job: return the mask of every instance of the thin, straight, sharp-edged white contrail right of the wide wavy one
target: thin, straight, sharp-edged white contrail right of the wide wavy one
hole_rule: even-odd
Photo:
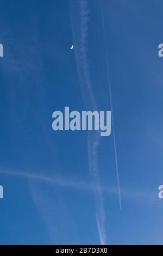
[[[111,113],[112,113],[112,134],[113,134],[114,151],[115,151],[115,164],[116,164],[116,175],[117,175],[117,185],[118,185],[118,197],[119,197],[120,209],[122,209],[120,178],[119,178],[118,160],[117,160],[117,147],[116,147],[116,137],[115,137],[115,128],[114,128],[114,116],[113,116],[113,107],[112,107],[110,71],[109,71],[109,61],[108,61],[109,55],[108,55],[108,47],[107,47],[107,44],[106,44],[106,28],[105,28],[105,19],[104,19],[104,11],[103,11],[102,0],[101,0],[101,12],[102,12],[102,22],[103,22],[103,30],[104,30],[104,41],[105,41],[105,52],[106,52],[106,70],[107,70],[107,76],[108,76],[110,107],[111,107]]]

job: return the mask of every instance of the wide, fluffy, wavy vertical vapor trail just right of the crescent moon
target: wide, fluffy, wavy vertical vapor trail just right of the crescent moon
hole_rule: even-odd
[[[76,8],[74,8],[76,6]],[[86,0],[78,0],[71,2],[71,27],[74,41],[74,52],[76,56],[77,70],[82,90],[84,103],[88,109],[92,111],[97,110],[95,95],[92,90],[92,82],[89,71],[89,60],[87,56],[87,33],[89,20],[89,10]],[[77,8],[78,11],[77,11]],[[80,15],[78,15],[80,13]],[[77,25],[78,24],[78,25]],[[102,187],[98,170],[98,145],[100,141],[99,133],[92,132],[88,137],[88,151],[89,151],[89,169],[93,186],[93,193],[96,202],[96,221],[101,244],[106,244],[105,231],[105,212]]]

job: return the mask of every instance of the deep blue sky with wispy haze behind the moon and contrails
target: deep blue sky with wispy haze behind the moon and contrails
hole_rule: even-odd
[[[99,0],[1,1],[1,245],[162,244],[163,3],[102,4],[105,32]],[[113,133],[52,130],[110,111],[107,51],[121,210]]]

